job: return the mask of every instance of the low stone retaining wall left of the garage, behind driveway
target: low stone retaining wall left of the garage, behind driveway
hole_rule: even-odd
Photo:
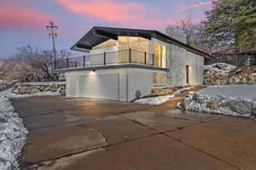
[[[37,94],[42,92],[58,92],[65,94],[65,82],[23,82],[16,83],[14,94]]]

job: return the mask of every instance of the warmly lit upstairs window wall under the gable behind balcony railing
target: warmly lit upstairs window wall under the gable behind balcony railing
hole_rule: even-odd
[[[152,51],[150,51],[150,45]],[[143,37],[123,37],[119,36],[118,40],[109,39],[102,42],[97,48],[117,47],[117,57],[119,63],[127,63],[129,61],[129,48],[131,48],[131,62],[141,63],[166,68],[166,46],[160,42],[150,43],[150,40]]]

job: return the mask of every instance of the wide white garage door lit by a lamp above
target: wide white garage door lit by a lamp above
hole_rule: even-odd
[[[78,97],[119,100],[119,74],[92,74],[76,77]]]

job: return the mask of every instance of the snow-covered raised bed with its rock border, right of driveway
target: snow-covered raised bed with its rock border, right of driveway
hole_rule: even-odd
[[[193,99],[195,94],[189,94],[185,98],[189,100],[189,104],[185,106],[186,110],[248,118],[256,116],[256,84],[209,86],[201,89],[197,94],[198,101]],[[181,105],[178,104],[178,106]]]

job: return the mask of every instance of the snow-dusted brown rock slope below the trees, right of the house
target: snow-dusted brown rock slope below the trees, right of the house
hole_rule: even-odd
[[[256,66],[236,67],[225,63],[205,65],[204,83],[206,85],[253,84],[256,83]]]

